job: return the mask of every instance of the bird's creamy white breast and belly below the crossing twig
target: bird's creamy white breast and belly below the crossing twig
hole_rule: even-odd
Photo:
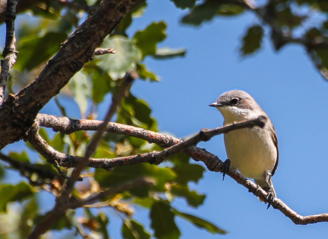
[[[231,166],[249,178],[263,178],[272,171],[277,160],[276,146],[270,131],[254,127],[224,134],[224,143]]]

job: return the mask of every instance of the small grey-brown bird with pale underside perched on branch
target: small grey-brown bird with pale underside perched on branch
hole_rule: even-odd
[[[224,144],[231,167],[245,177],[254,178],[255,183],[268,193],[267,199],[272,200],[276,192],[271,176],[277,170],[279,151],[277,133],[267,114],[252,96],[241,90],[228,91],[209,106],[221,112],[223,125],[255,119],[261,115],[268,118],[263,128],[244,128],[224,134]]]

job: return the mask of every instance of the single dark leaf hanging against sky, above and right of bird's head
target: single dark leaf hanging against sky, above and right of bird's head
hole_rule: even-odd
[[[242,55],[251,54],[261,47],[263,32],[263,28],[259,25],[248,28],[243,37],[243,45],[240,49]]]

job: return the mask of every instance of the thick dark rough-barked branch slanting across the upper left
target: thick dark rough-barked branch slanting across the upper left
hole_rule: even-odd
[[[92,59],[96,47],[141,1],[103,1],[72,33],[35,81],[16,95],[9,95],[0,108],[0,150],[24,136],[40,109]]]

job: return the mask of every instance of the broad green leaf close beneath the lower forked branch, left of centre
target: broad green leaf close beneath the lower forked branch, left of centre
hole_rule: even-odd
[[[103,169],[96,169],[94,174],[94,178],[98,181],[100,187],[115,187],[141,177],[154,178],[156,186],[152,188],[164,192],[166,190],[164,184],[174,181],[176,176],[169,168],[161,168],[148,163],[117,167],[111,172],[107,172]],[[129,191],[137,196],[148,196],[148,189],[137,188]]]

